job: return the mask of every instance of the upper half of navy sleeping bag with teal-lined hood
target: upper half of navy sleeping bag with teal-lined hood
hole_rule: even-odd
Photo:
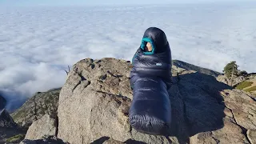
[[[146,43],[150,42],[152,51],[146,51]],[[130,72],[130,85],[133,88],[136,75],[160,77],[169,89],[171,83],[171,51],[166,34],[157,27],[148,28],[142,43],[132,59],[133,69]],[[135,76],[135,78],[133,78]]]

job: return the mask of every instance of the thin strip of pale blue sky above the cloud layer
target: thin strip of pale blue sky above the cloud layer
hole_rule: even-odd
[[[254,2],[254,0],[0,0],[0,6],[97,6],[202,2]]]

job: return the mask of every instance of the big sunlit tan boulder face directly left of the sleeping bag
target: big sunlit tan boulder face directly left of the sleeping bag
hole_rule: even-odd
[[[87,58],[75,64],[60,92],[58,138],[70,143],[104,136],[129,139],[129,70],[128,62],[114,58]]]

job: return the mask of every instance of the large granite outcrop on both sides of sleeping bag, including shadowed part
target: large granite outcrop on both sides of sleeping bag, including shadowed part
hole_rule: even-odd
[[[254,99],[210,75],[173,66],[169,139],[174,143],[249,143],[246,131],[256,130]],[[86,58],[76,63],[60,92],[58,138],[70,143],[169,143],[163,136],[141,134],[130,127],[129,81],[130,62]]]

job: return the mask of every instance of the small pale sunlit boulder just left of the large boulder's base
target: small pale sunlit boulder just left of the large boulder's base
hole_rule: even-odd
[[[57,122],[56,119],[51,118],[49,114],[42,116],[42,118],[33,122],[29,130],[26,132],[25,139],[37,140],[45,135],[57,134]]]

